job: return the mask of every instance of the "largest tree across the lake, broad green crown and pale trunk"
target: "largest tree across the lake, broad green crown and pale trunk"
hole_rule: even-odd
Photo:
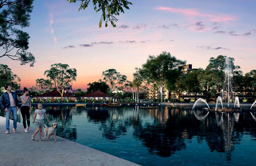
[[[143,80],[147,81],[148,84],[152,83],[157,86],[161,94],[162,103],[165,82],[175,83],[185,64],[186,61],[179,60],[164,51],[158,56],[149,56],[147,62],[142,64],[139,72]]]

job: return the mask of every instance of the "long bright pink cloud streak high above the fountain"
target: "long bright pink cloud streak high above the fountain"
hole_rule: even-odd
[[[235,16],[229,16],[229,15],[210,15],[210,14],[203,14],[198,12],[197,9],[181,9],[181,8],[170,8],[170,7],[157,7],[155,10],[161,10],[166,11],[170,13],[181,13],[186,16],[199,16],[199,17],[206,17],[209,18],[210,21],[237,21],[238,18]]]

